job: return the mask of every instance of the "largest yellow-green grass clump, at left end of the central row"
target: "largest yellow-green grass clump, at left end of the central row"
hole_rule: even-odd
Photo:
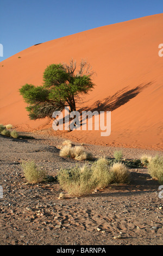
[[[96,182],[92,179],[92,171],[89,166],[78,166],[69,169],[61,169],[58,181],[62,189],[70,196],[84,196],[90,194],[96,188]]]

